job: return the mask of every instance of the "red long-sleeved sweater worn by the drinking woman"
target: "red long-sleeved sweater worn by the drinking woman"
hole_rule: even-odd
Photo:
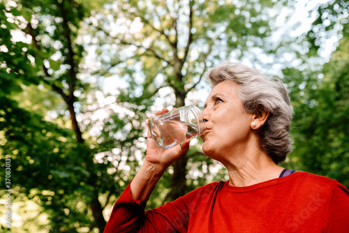
[[[128,186],[104,232],[349,232],[349,191],[307,172],[247,187],[210,183],[144,213],[146,202]]]

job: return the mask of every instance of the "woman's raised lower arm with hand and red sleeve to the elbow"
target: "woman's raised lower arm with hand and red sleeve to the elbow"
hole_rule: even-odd
[[[159,115],[165,112],[168,112],[168,110],[163,109],[156,114]],[[138,174],[114,205],[110,220],[105,227],[105,233],[138,232],[140,227],[142,227],[142,231],[147,231],[147,229],[149,229],[149,232],[154,231],[154,224],[149,220],[145,220],[145,204],[163,172],[174,160],[181,158],[188,151],[189,143],[190,140],[186,140],[181,145],[174,146],[171,149],[160,149],[153,142],[148,128],[147,156]]]

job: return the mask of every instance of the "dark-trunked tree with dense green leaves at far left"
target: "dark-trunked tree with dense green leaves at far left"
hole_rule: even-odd
[[[99,171],[105,167],[95,163],[94,151],[77,122],[76,91],[83,92],[87,85],[79,80],[83,48],[76,39],[88,12],[78,1],[1,3],[0,75],[1,87],[8,87],[1,91],[1,156],[13,156],[12,177],[18,196],[25,193],[45,207],[51,231],[97,227],[103,232],[105,227],[98,200],[105,191],[101,183],[105,172]],[[12,33],[22,33],[28,41],[16,41]],[[52,89],[56,98],[64,100],[73,134],[19,107],[12,95],[21,90],[21,84],[40,84],[41,89]],[[115,187],[108,182],[108,188]]]

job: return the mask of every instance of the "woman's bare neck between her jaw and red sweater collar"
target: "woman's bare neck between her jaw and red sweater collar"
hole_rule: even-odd
[[[264,151],[255,151],[250,156],[241,156],[223,163],[228,169],[231,186],[252,186],[256,183],[276,179],[283,167],[276,165]]]

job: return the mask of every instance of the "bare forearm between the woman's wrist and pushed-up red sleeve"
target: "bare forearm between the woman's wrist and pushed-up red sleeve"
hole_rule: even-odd
[[[133,200],[145,200],[163,175],[165,168],[144,160],[140,171],[130,184]]]

